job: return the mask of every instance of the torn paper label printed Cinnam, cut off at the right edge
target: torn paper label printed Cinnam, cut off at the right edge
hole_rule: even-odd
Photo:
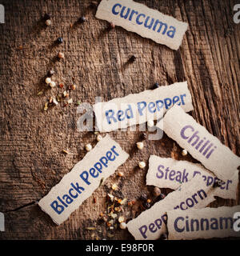
[[[239,217],[240,206],[167,211],[168,238],[240,237]]]

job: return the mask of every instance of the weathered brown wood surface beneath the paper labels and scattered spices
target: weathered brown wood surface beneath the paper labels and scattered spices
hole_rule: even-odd
[[[94,18],[96,10],[89,8],[88,0],[2,1],[6,23],[0,24],[0,211],[5,213],[6,231],[0,233],[1,239],[95,238],[86,226],[97,226],[95,233],[106,238],[106,226],[98,223],[98,215],[106,210],[106,191],[112,182],[118,183],[123,197],[134,200],[142,191],[151,197],[152,188],[145,182],[147,168],[136,168],[139,160],[147,162],[150,154],[170,157],[174,152],[178,159],[194,161],[180,156],[181,149],[166,134],[160,141],[147,142],[140,151],[135,146],[140,132],[111,132],[130,153],[119,168],[125,176],[109,178],[66,222],[56,226],[34,202],[83,158],[84,145],[95,145],[96,138],[77,130],[76,106],[42,110],[51,94],[63,91],[56,87],[37,96],[50,67],[56,70],[57,81],[77,85],[70,92],[74,102],[91,104],[95,96],[107,101],[150,89],[154,82],[168,85],[187,80],[194,118],[239,155],[240,30],[233,22],[238,1],[138,2],[189,23],[178,51],[120,27],[107,30],[107,22]],[[46,12],[52,14],[50,27],[42,26],[41,16]],[[82,15],[87,22],[70,28]],[[64,43],[54,46],[58,36]],[[59,50],[66,58],[55,62]],[[126,65],[133,54],[136,61]],[[70,154],[62,154],[62,149]],[[236,204],[239,197],[236,202],[218,198],[211,206]],[[131,217],[127,211],[124,214]],[[132,237],[118,229],[112,239],[119,238]]]

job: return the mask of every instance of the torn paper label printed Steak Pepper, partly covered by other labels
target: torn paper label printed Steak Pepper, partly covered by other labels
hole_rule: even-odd
[[[202,165],[187,161],[178,161],[173,158],[160,158],[151,155],[149,170],[146,174],[146,185],[158,186],[177,190],[182,183],[189,182],[196,175],[201,175],[206,186],[213,186],[219,179],[206,170]],[[236,199],[238,189],[238,171],[230,180],[214,190],[214,195],[220,198]]]

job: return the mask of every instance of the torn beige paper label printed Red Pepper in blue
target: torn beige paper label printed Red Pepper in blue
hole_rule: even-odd
[[[109,132],[162,118],[174,104],[182,106],[186,112],[193,110],[187,82],[160,86],[140,94],[114,98],[110,102],[98,102],[94,105],[94,113],[98,130]]]

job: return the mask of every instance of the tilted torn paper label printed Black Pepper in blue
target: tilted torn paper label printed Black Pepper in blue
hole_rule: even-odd
[[[38,205],[60,225],[93,194],[102,178],[114,174],[128,157],[129,154],[106,135],[38,202]]]

